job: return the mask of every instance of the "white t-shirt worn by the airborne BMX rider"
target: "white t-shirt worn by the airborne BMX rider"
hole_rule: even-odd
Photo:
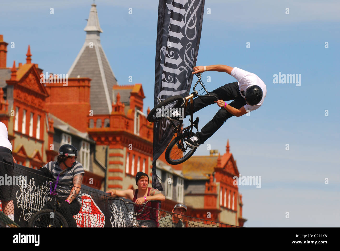
[[[262,89],[263,95],[261,101],[257,105],[249,104],[244,105],[244,109],[246,111],[247,110],[249,110],[250,112],[254,111],[263,104],[263,100],[265,99],[267,94],[267,86],[265,83],[263,83],[263,81],[259,77],[257,77],[256,74],[234,67],[231,72],[231,76],[233,76],[238,81],[238,89],[240,90],[240,93],[243,98],[245,90],[249,86],[258,85]]]

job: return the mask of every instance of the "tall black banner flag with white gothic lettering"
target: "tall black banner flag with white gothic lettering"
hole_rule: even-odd
[[[174,95],[187,96],[190,91],[200,45],[204,0],[159,0],[155,101]],[[156,175],[156,160],[171,141],[171,124],[162,119],[154,122],[152,187],[163,190]]]

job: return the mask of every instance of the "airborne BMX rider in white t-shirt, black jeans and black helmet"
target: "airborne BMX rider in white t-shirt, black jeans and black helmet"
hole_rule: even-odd
[[[185,140],[192,147],[198,147],[203,144],[228,118],[232,116],[240,117],[259,108],[267,94],[265,83],[254,73],[227,65],[196,66],[193,67],[192,73],[204,71],[223,71],[233,76],[237,82],[225,84],[209,93],[217,96],[219,98],[217,101],[204,97],[198,97],[193,100],[193,112],[197,112],[214,102],[224,109],[218,110],[214,118],[202,128],[201,132],[196,132],[192,137]],[[227,104],[224,100],[233,101]],[[187,109],[185,115],[189,114],[190,110]]]

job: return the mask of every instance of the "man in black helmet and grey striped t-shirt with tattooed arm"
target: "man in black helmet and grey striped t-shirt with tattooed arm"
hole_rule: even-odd
[[[62,145],[57,161],[47,163],[47,168],[54,179],[58,179],[58,202],[60,213],[69,222],[70,227],[77,227],[73,215],[77,215],[82,205],[80,188],[83,182],[84,168],[77,159],[78,151],[72,145]],[[59,178],[58,178],[59,176]],[[51,205],[47,204],[48,207]]]

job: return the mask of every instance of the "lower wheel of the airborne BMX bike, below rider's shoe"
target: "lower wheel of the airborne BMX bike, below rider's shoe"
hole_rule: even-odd
[[[191,155],[196,151],[197,147],[191,147],[189,145],[187,145],[184,142],[184,147],[185,149],[189,148],[189,151],[187,153],[185,153],[183,155],[183,150],[179,149],[176,143],[179,142],[180,140],[182,140],[183,138],[189,138],[188,137],[183,137],[183,135],[179,135],[177,137],[175,137],[169,144],[169,146],[167,147],[167,150],[165,151],[165,160],[170,164],[170,165],[178,165],[181,164],[183,162],[185,162],[186,160],[188,160],[188,158],[191,157]],[[176,147],[176,148],[174,148]],[[181,156],[182,153],[182,157]]]

